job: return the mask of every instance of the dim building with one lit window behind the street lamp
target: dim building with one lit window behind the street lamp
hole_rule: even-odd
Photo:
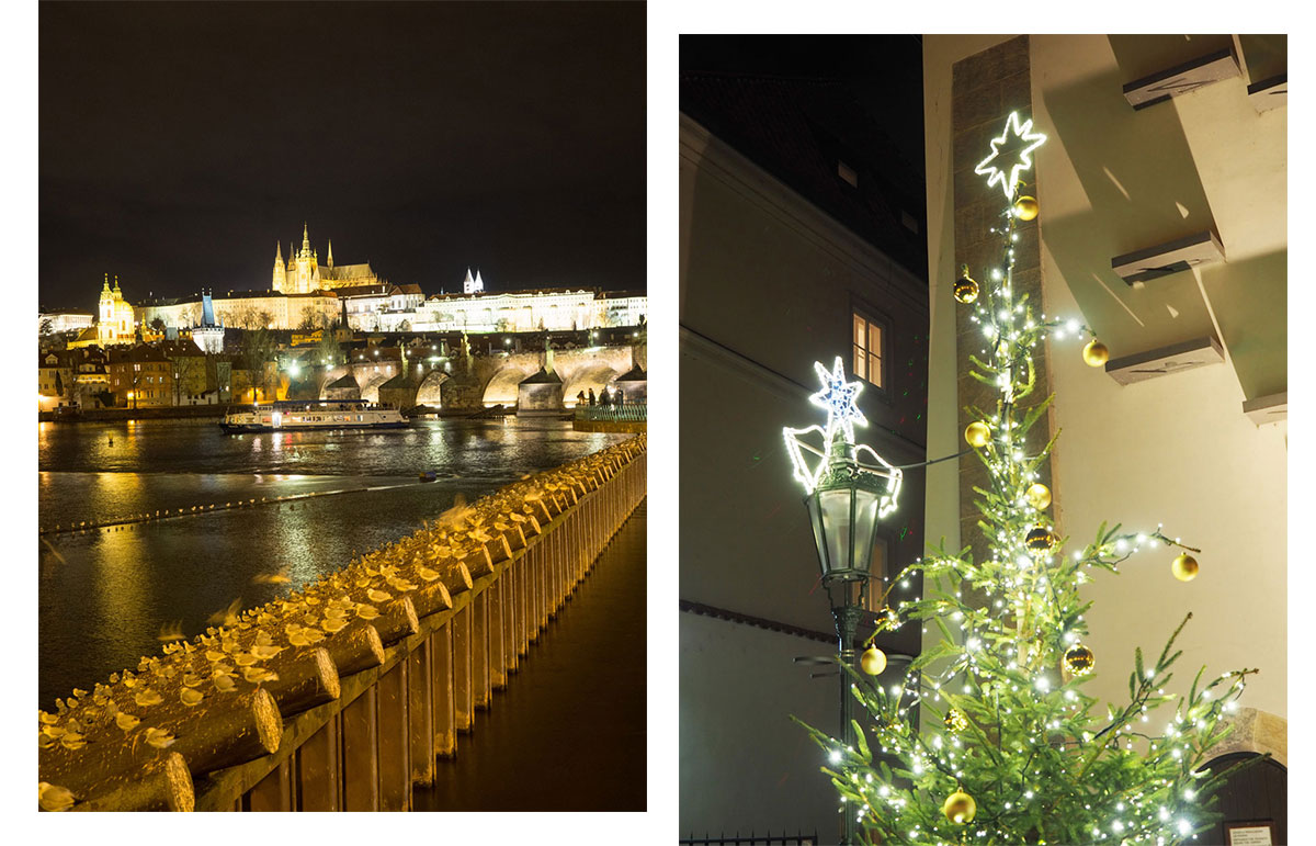
[[[834,152],[811,133],[817,101],[771,79],[682,75],[679,816],[696,842],[751,830],[837,842],[822,756],[791,721],[838,730],[834,623],[782,441],[783,426],[821,422],[813,364],[840,356],[863,385],[859,441],[896,465],[926,457],[926,283],[875,245],[891,233],[850,203]],[[853,104],[837,115],[862,117]],[[758,127],[771,142],[746,136]],[[891,202],[921,215],[917,195]],[[921,552],[921,515],[911,472],[870,561],[870,605]],[[879,644],[884,680],[919,651],[908,630]]]

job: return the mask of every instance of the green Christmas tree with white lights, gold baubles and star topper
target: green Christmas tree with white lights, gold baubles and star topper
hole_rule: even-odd
[[[975,422],[965,431],[990,478],[975,488],[990,556],[937,550],[892,578],[895,586],[921,572],[924,597],[884,610],[878,631],[921,625],[941,639],[888,688],[844,665],[869,716],[854,721],[853,743],[808,727],[863,842],[1166,846],[1219,818],[1212,792],[1230,770],[1199,768],[1228,734],[1223,717],[1255,671],[1203,679],[1203,668],[1187,692],[1171,693],[1180,655],[1174,643],[1187,614],[1154,660],[1136,652],[1126,701],[1100,709],[1083,692],[1096,660],[1083,644],[1091,604],[1080,586],[1096,569],[1117,573],[1144,548],[1184,550],[1171,571],[1186,581],[1198,571],[1187,552],[1198,550],[1159,526],[1140,532],[1103,524],[1086,546],[1055,534],[1038,472],[1055,439],[1040,449],[1026,439],[1051,399],[1034,395],[1033,357],[1048,337],[1091,337],[1083,357],[1094,366],[1107,351],[1086,327],[1034,314],[1012,286],[1016,231],[1037,216],[1020,175],[1044,141],[1017,115],[992,141],[976,173],[1005,198],[994,228],[1001,261],[983,285],[965,268],[954,290],[974,308],[986,340],[983,354],[970,356],[973,376],[995,393],[995,407],[969,409]],[[886,665],[871,646],[861,663],[874,672]],[[916,712],[921,727],[912,725]]]

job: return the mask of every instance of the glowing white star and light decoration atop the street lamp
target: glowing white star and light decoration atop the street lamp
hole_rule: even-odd
[[[822,390],[809,397],[809,402],[826,410],[826,426],[808,426],[805,428],[791,428],[787,426],[782,430],[782,435],[786,437],[786,451],[791,456],[791,465],[795,470],[795,478],[804,485],[807,493],[812,494],[834,460],[849,460],[857,472],[880,476],[887,480],[886,494],[882,497],[878,513],[879,517],[886,517],[896,507],[896,495],[900,493],[903,474],[898,468],[887,463],[886,459],[874,452],[871,447],[854,443],[854,426],[869,424],[869,419],[855,406],[855,399],[858,399],[859,391],[863,390],[863,382],[845,381],[845,365],[840,356],[836,357],[836,362],[830,370],[817,361],[813,362],[813,370],[819,374],[819,381],[822,382]],[[801,436],[809,432],[822,435],[822,449],[817,449],[801,440]],[[808,465],[804,457],[805,452],[819,456],[815,466],[811,468]],[[873,456],[875,464],[859,464],[858,456],[861,452],[867,452]]]

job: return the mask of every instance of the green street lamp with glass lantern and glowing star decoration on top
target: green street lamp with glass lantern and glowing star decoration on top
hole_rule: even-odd
[[[813,527],[822,585],[836,621],[837,662],[841,665],[841,738],[848,747],[853,747],[850,713],[854,700],[846,667],[854,665],[854,634],[867,596],[878,522],[895,510],[903,474],[871,447],[854,443],[854,426],[869,424],[854,405],[863,383],[845,381],[840,356],[830,372],[817,362],[813,369],[822,390],[809,397],[809,402],[826,410],[826,427],[786,427],[782,434],[795,478],[804,485],[804,505]],[[822,435],[822,449],[803,440],[811,432]],[[859,461],[859,453],[865,451],[875,464]],[[812,466],[805,452],[817,457]],[[855,810],[842,808],[841,820],[845,830],[841,843],[849,846],[855,842],[858,830]]]

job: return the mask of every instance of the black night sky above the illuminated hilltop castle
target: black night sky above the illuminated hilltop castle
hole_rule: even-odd
[[[42,3],[41,304],[267,289],[275,241],[426,294],[645,287],[642,3]]]

